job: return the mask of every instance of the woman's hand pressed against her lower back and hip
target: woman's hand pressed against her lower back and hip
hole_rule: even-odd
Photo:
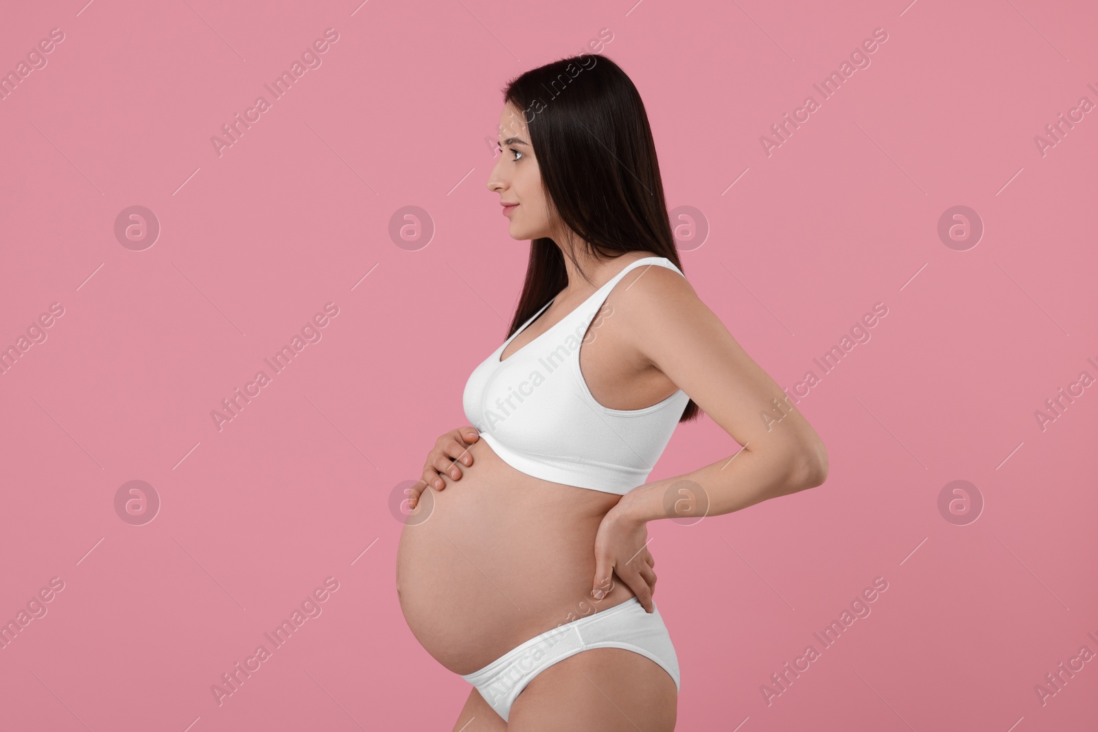
[[[656,592],[656,559],[648,551],[648,522],[626,517],[613,508],[595,533],[595,582],[591,596],[602,599],[616,574],[651,612]]]

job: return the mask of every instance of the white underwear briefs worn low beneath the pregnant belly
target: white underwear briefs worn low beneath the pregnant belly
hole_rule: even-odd
[[[660,610],[652,612],[630,597],[608,610],[573,620],[531,638],[480,671],[461,678],[477,687],[500,717],[507,720],[511,706],[534,677],[558,661],[587,649],[625,649],[651,658],[679,685],[679,656]]]

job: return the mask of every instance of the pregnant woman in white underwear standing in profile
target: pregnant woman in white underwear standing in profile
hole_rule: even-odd
[[[500,148],[488,188],[530,240],[526,281],[466,384],[473,427],[438,439],[410,493],[401,608],[473,686],[453,730],[673,730],[647,523],[820,485],[827,452],[684,278],[645,106],[614,61],[511,81]],[[646,482],[699,408],[742,449]]]

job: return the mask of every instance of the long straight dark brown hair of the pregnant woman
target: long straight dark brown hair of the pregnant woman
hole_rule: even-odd
[[[617,64],[601,54],[561,58],[508,81],[503,95],[524,112],[550,216],[600,261],[651,251],[682,270],[645,103]],[[571,251],[569,258],[589,279]],[[507,337],[567,284],[561,248],[550,238],[531,240]],[[698,412],[691,399],[679,421]]]

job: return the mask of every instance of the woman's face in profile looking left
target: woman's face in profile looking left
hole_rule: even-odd
[[[503,154],[492,168],[488,189],[500,194],[501,203],[517,204],[501,206],[511,219],[507,233],[513,239],[556,240],[549,223],[549,196],[542,188],[526,117],[518,108],[505,104],[500,113],[498,143]]]

